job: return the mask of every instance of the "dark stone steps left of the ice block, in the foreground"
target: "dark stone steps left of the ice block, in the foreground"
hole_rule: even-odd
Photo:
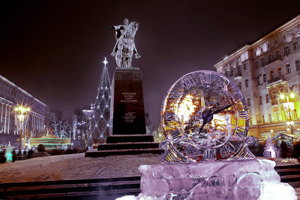
[[[116,199],[140,193],[140,176],[1,184],[0,199]]]

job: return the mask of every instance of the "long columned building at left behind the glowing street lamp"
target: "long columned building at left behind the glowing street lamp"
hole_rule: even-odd
[[[18,146],[15,145],[20,136],[15,122],[18,113],[14,110],[18,105],[30,108],[26,129],[35,133],[44,131],[46,104],[0,75],[0,145],[10,142]]]

